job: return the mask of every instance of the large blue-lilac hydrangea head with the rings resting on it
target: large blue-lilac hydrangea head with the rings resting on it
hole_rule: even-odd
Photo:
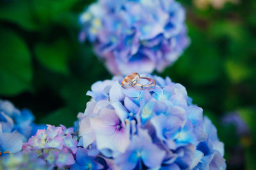
[[[154,89],[124,89],[122,76],[92,85],[92,99],[79,113],[84,148],[108,169],[226,169],[216,128],[185,87],[147,76],[156,80]]]

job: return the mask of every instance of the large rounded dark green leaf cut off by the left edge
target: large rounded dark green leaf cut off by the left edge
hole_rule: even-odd
[[[0,94],[12,96],[31,88],[31,58],[15,32],[0,29],[0,37]]]

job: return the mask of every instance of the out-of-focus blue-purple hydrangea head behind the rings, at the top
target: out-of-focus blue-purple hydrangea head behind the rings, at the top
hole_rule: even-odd
[[[185,15],[174,0],[98,0],[81,14],[80,40],[113,74],[161,72],[189,45]]]

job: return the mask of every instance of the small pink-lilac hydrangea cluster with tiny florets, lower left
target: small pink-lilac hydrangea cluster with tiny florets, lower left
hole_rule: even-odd
[[[72,127],[47,125],[46,130],[38,130],[22,148],[24,153],[37,153],[37,157],[53,167],[68,167],[75,163],[77,136]]]

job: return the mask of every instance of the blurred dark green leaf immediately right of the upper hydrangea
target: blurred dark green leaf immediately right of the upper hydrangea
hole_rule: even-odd
[[[191,45],[174,64],[177,74],[186,76],[194,85],[212,84],[220,78],[221,70],[216,46],[193,25],[189,26],[189,36],[192,39]]]

